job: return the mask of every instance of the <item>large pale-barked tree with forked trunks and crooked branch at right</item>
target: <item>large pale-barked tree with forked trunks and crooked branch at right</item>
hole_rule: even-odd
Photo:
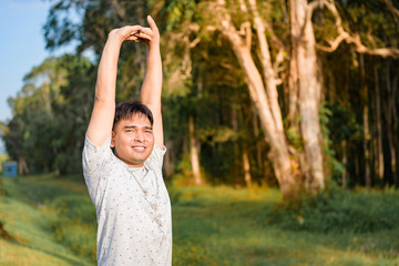
[[[182,1],[168,1],[166,10],[172,10],[173,14],[178,13],[175,9],[182,11],[181,7],[184,6],[180,6],[180,3]],[[188,1],[188,3],[192,2]],[[259,115],[266,141],[270,145],[269,160],[274,165],[276,178],[283,195],[290,198],[297,196],[301,190],[308,193],[318,192],[325,187],[326,182],[323,163],[324,140],[319,117],[319,106],[323,100],[323,70],[317,49],[332,52],[345,41],[354,45],[355,51],[359,53],[397,58],[398,50],[389,47],[389,41],[378,43],[382,47],[368,48],[360,38],[352,37],[344,28],[335,1],[289,1],[291,42],[289,43],[288,117],[290,126],[299,124],[300,130],[297,133],[300,135],[303,150],[293,149],[288,142],[289,135],[285,134],[289,127],[284,127],[282,115],[284,106],[280,106],[277,93],[282,74],[278,69],[286,60],[282,54],[287,53],[288,49],[283,41],[277,40],[274,28],[282,30],[284,27],[277,25],[273,20],[266,20],[269,18],[267,16],[270,16],[270,10],[276,10],[274,7],[277,1],[257,3],[255,0],[202,1],[197,3],[195,11],[191,10],[190,13],[202,11],[209,14],[207,19],[193,21],[192,17],[184,18],[184,14],[188,13],[187,11],[184,11],[185,13],[182,11],[181,20],[192,20],[192,24],[202,22],[203,28],[217,30],[229,43],[245,73],[250,98]],[[337,34],[332,38],[331,34],[325,34],[324,39],[317,43],[313,19],[315,11],[323,10],[324,7],[329,11],[326,17],[331,17],[328,21],[326,20],[329,22],[329,27],[326,28],[331,30],[332,25],[332,30]],[[392,6],[390,8],[395,13],[396,9]],[[187,22],[182,23],[187,24]],[[252,34],[253,32],[255,37]],[[270,47],[269,40],[274,47]],[[297,120],[298,116],[299,120]]]

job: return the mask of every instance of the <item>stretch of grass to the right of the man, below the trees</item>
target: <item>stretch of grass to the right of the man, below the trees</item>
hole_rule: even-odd
[[[398,250],[399,238],[395,238],[397,233],[392,229],[367,234],[325,233],[314,232],[310,227],[306,231],[296,229],[276,221],[270,223],[274,218],[270,213],[282,207],[280,195],[275,190],[172,187],[170,194],[174,266],[399,265],[398,253],[395,252]],[[337,197],[339,200],[339,194]],[[360,203],[365,204],[367,201],[361,198]],[[331,204],[339,205],[338,200],[331,201]],[[369,201],[375,200],[369,197]],[[354,201],[357,200],[341,198],[344,206],[332,209],[350,209]],[[326,206],[327,200],[319,204],[330,209]],[[372,204],[376,206],[377,203]],[[289,209],[280,208],[279,214],[282,218],[293,218]],[[305,218],[323,223],[334,214],[311,215]],[[345,213],[336,215],[345,216]],[[300,219],[294,216],[294,222],[300,223]]]

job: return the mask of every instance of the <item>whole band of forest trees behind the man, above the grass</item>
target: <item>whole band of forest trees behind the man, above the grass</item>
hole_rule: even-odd
[[[9,99],[2,139],[24,173],[81,173],[108,33],[162,34],[167,181],[279,187],[284,198],[398,186],[399,2],[53,0],[45,59]],[[90,51],[92,57],[85,58]],[[126,43],[117,102],[137,99],[145,47]]]

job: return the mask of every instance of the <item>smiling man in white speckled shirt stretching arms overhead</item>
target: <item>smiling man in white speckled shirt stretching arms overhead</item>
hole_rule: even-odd
[[[172,265],[171,203],[162,177],[160,33],[127,25],[112,30],[98,73],[83,149],[83,174],[98,218],[99,265]],[[147,44],[141,102],[115,108],[117,59],[124,41]],[[111,147],[114,147],[114,153]]]

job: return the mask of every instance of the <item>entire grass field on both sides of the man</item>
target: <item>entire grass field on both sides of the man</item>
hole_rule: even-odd
[[[317,226],[300,229],[289,219],[278,222],[284,211],[273,221],[274,209],[282,206],[275,188],[168,191],[174,266],[399,265],[399,226],[389,223],[386,228],[374,225],[376,229],[360,233]],[[378,202],[377,208],[398,217],[392,212],[399,212],[399,205],[392,201],[399,200],[399,193],[381,198],[389,201]],[[301,224],[304,219],[306,223],[307,216],[297,221]],[[95,211],[80,176],[1,177],[0,223],[0,265],[95,265]],[[350,222],[347,226],[357,228]]]

